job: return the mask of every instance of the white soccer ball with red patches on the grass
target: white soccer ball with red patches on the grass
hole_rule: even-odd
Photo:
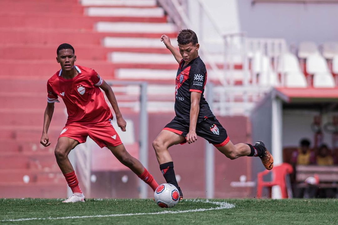
[[[161,208],[171,208],[177,204],[179,192],[174,185],[163,183],[156,188],[154,199],[156,204]]]

